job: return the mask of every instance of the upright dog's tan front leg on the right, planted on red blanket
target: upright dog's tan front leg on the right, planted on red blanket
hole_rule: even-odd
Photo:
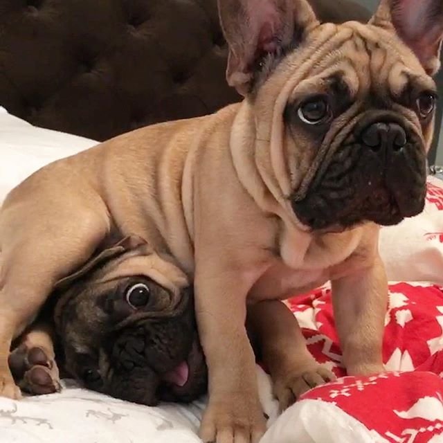
[[[332,281],[334,317],[343,363],[350,375],[383,372],[383,330],[388,281],[381,259],[363,271]]]

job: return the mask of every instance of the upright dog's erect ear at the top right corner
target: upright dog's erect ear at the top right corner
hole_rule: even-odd
[[[440,69],[442,0],[382,0],[370,23],[393,28],[413,50],[428,75]]]

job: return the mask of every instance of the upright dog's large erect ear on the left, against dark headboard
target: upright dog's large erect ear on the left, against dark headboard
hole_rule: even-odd
[[[284,52],[318,25],[306,0],[218,0],[218,8],[229,47],[226,79],[243,96],[264,56]]]

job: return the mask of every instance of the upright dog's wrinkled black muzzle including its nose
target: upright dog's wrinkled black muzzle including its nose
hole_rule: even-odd
[[[313,230],[350,228],[363,221],[398,224],[422,212],[426,197],[426,152],[408,123],[395,116],[364,119],[328,152],[305,195],[291,204]]]

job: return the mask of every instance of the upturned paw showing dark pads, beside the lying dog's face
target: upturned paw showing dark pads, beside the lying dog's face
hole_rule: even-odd
[[[12,376],[24,392],[44,395],[61,390],[57,363],[42,347],[22,344],[11,352],[8,363]]]

